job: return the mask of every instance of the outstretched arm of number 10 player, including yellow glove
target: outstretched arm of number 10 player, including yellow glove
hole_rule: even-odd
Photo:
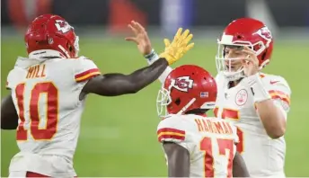
[[[131,24],[137,26],[137,28],[134,29],[136,37],[129,37],[127,40],[137,42],[137,47],[139,47],[139,44],[142,44],[142,42],[139,41],[138,38],[140,38],[140,36],[145,36],[146,31],[137,22],[132,22]],[[129,26],[131,27],[131,25]],[[194,43],[188,45],[193,38],[189,30],[182,32],[182,29],[179,29],[175,36],[177,36],[177,39],[172,41],[169,48],[165,49],[163,53],[160,54],[160,58],[151,66],[139,69],[130,75],[108,74],[95,76],[84,85],[82,92],[97,93],[104,96],[137,93],[161,76],[166,67],[172,65],[179,60],[184,53],[193,48]]]

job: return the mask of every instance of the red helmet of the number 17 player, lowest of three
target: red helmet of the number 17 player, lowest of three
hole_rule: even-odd
[[[216,102],[216,81],[202,67],[177,67],[166,77],[156,102],[160,117],[194,109],[213,109]]]

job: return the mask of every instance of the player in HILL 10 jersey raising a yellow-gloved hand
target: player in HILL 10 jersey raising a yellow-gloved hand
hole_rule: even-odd
[[[93,60],[78,56],[78,37],[64,18],[44,14],[34,19],[24,36],[29,57],[17,58],[7,77],[12,92],[1,105],[1,128],[17,128],[20,149],[11,160],[9,176],[74,177],[86,94],[137,93],[193,47],[188,45],[192,34],[181,37],[149,67],[130,75],[102,75]]]

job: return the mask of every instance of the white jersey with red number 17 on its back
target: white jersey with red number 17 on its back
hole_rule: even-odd
[[[230,122],[195,114],[169,115],[157,128],[159,142],[174,142],[190,154],[190,177],[232,177],[238,142]]]

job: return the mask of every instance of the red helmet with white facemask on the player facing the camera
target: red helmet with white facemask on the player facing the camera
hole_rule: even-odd
[[[241,18],[227,25],[221,39],[218,40],[216,68],[218,72],[223,71],[225,76],[233,81],[243,77],[243,67],[237,71],[231,71],[231,62],[241,59],[225,58],[225,47],[231,46],[248,46],[253,49],[259,59],[261,69],[269,64],[273,49],[273,39],[267,26],[256,19]]]

